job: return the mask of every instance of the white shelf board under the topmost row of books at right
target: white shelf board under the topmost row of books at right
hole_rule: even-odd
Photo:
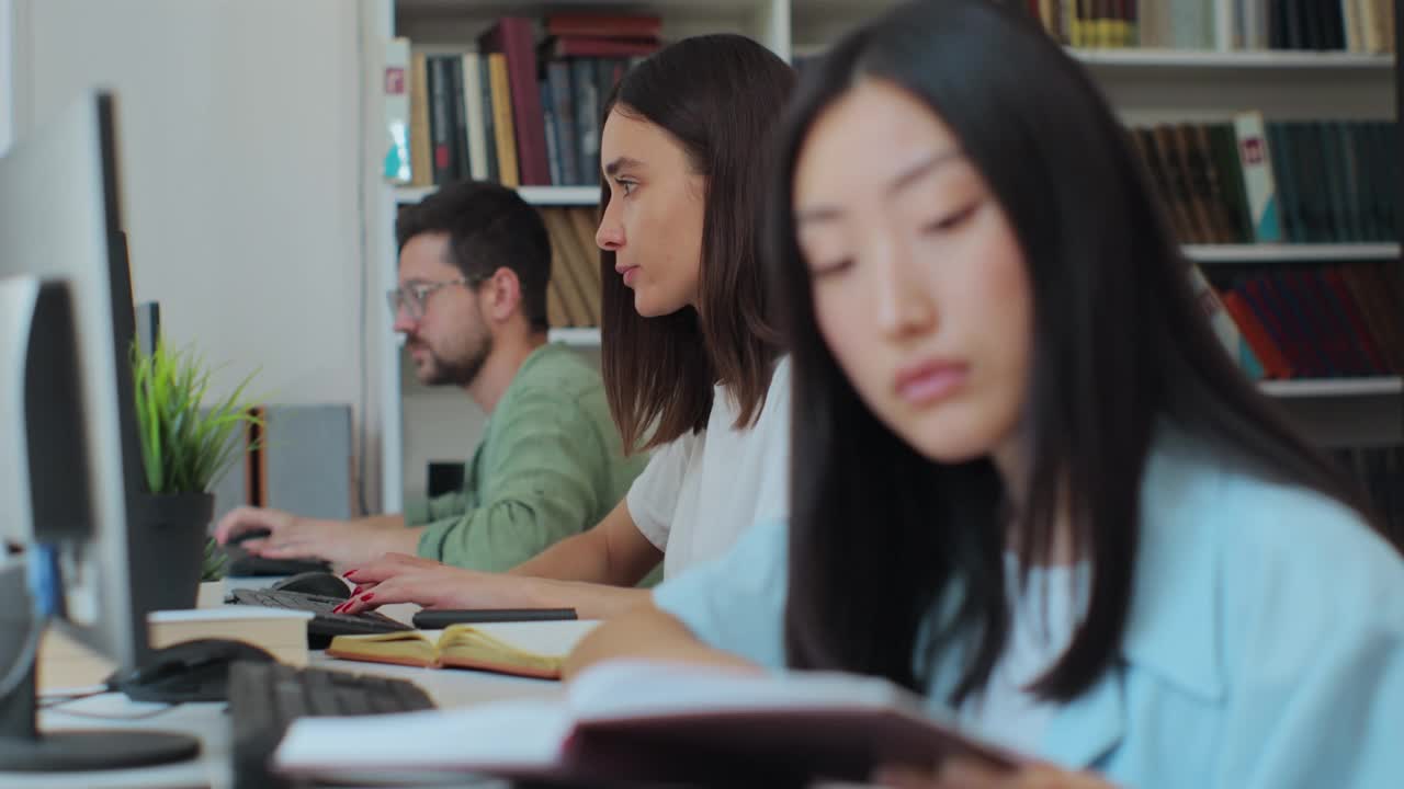
[[[1387,70],[1393,55],[1362,52],[1289,52],[1241,51],[1217,52],[1196,49],[1070,49],[1074,58],[1091,67],[1136,69],[1346,69]]]

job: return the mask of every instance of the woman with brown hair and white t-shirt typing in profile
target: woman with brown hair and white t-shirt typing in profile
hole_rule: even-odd
[[[737,35],[680,41],[615,87],[601,133],[602,372],[649,468],[595,528],[508,574],[389,555],[344,611],[571,606],[601,618],[785,515],[789,385],[768,317],[760,212],[793,72]]]

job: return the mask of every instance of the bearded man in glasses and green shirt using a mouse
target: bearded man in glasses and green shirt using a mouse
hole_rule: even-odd
[[[400,211],[395,330],[421,383],[458,386],[489,414],[463,490],[403,515],[322,521],[241,507],[215,536],[267,557],[357,564],[417,553],[508,570],[600,522],[644,458],[625,458],[600,373],[546,343],[550,239],[515,191],[468,181]]]

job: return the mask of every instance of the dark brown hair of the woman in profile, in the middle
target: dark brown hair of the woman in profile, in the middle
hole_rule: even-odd
[[[765,404],[779,337],[768,314],[760,211],[769,133],[793,84],[793,70],[760,44],[703,35],[630,69],[604,105],[601,128],[615,108],[644,119],[668,132],[706,177],[699,309],[640,316],[615,274],[614,253],[600,256],[601,368],[630,451],[705,428],[717,383],[736,400],[737,428]],[[602,212],[608,184],[600,202]]]

